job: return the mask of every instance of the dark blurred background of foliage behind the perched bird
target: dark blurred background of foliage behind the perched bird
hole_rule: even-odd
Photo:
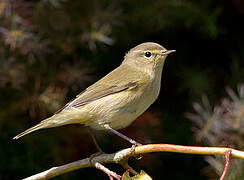
[[[52,115],[147,41],[167,58],[158,100],[121,130],[147,143],[244,149],[241,0],[0,0],[0,179],[22,179],[96,152],[85,127],[18,133]],[[98,132],[105,152],[130,144]],[[218,179],[220,156],[152,153],[131,159],[154,179]],[[108,165],[122,174],[118,165]],[[94,168],[54,179],[108,179]],[[243,179],[233,159],[226,179]]]

